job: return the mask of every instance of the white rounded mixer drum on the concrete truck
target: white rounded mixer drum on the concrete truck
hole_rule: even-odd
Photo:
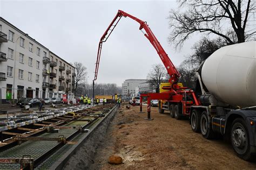
[[[256,105],[256,41],[218,49],[204,62],[201,77],[218,100],[233,107]]]

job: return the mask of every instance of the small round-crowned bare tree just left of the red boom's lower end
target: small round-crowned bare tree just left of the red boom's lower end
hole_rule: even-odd
[[[166,75],[166,69],[161,64],[153,65],[150,73],[147,74],[147,80],[154,88],[156,88],[156,93],[159,93],[160,83],[166,81]]]

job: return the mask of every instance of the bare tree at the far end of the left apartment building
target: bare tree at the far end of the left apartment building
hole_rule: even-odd
[[[80,86],[85,80],[87,72],[86,72],[86,67],[83,66],[83,64],[80,62],[75,62],[74,66],[76,67],[76,79],[75,79],[75,91],[76,91],[77,87]]]

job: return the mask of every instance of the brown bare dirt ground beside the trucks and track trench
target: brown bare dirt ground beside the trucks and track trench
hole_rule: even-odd
[[[153,121],[138,113],[139,106],[118,110],[103,142],[97,148],[90,169],[255,169],[234,154],[223,139],[206,140],[194,133],[188,120],[178,121],[169,113],[151,108]],[[108,163],[111,155],[123,158],[123,164]],[[219,162],[220,164],[216,164]]]

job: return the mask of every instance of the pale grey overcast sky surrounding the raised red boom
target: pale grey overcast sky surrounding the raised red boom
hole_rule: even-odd
[[[178,66],[199,37],[180,51],[168,43],[169,11],[176,1],[10,1],[0,0],[0,15],[68,62],[86,66],[89,83],[95,72],[99,39],[116,15],[124,10],[149,24],[158,41]],[[146,79],[153,64],[161,60],[139,24],[122,18],[104,42],[97,83]]]

